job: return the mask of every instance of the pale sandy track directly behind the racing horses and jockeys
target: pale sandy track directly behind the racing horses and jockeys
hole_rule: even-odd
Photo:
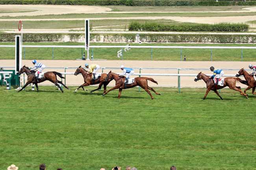
[[[236,71],[224,71],[225,74],[236,74],[237,71],[241,68],[247,68],[250,62],[206,62],[206,61],[132,61],[132,60],[39,60],[46,65],[46,67],[78,67],[84,66],[86,62],[89,64],[98,64],[100,67],[112,67],[119,68],[120,65],[132,68],[198,68],[198,70],[182,70],[181,74],[198,74],[200,69],[208,69],[210,66],[221,69],[237,69]],[[0,66],[14,66],[15,60],[0,60]],[[32,67],[31,60],[22,60],[22,64]],[[64,72],[64,69],[45,69],[45,71],[58,71]],[[67,69],[67,72],[74,73],[75,69]],[[104,69],[104,73],[108,73],[110,69]],[[120,69],[112,69],[115,73],[121,73]],[[101,72],[101,70],[99,70]],[[202,71],[206,74],[211,74],[211,71],[204,70]],[[139,70],[135,70],[135,73],[139,73]],[[178,73],[177,70],[152,70],[152,69],[143,69],[141,73]],[[135,77],[135,76],[133,76]],[[176,87],[178,85],[178,78],[174,76],[146,76],[152,77],[158,81],[159,85],[156,85],[152,82],[149,82],[150,86],[168,86]],[[241,77],[241,79],[243,79]],[[74,76],[67,75],[66,83],[69,85],[80,85],[83,84],[82,75]],[[51,84],[50,82],[45,82],[44,84]],[[114,81],[110,83],[114,85]],[[205,87],[203,81],[195,82],[194,77],[181,77],[181,86],[182,87]],[[239,86],[245,87],[245,85],[240,84]]]

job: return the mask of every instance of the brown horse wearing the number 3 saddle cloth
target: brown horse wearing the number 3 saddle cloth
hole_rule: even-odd
[[[202,72],[198,73],[197,77],[196,77],[194,80],[195,80],[195,81],[204,80],[204,82],[206,83],[206,88],[207,88],[207,90],[206,90],[206,93],[205,93],[203,99],[205,99],[206,96],[208,95],[209,91],[212,90],[212,91],[214,91],[214,92],[221,98],[221,100],[223,100],[222,97],[221,97],[221,95],[219,95],[219,93],[218,93],[217,90],[222,89],[222,88],[224,88],[224,87],[226,87],[226,86],[228,86],[228,87],[229,87],[230,89],[232,89],[232,90],[239,91],[241,95],[244,95],[244,96],[248,99],[247,95],[245,95],[245,93],[243,93],[243,92],[241,91],[241,88],[236,86],[236,81],[239,81],[239,82],[241,82],[242,84],[246,84],[246,85],[247,85],[247,82],[246,82],[245,80],[241,80],[241,79],[236,78],[236,77],[226,77],[226,78],[224,79],[224,84],[223,84],[223,86],[219,86],[219,85],[216,86],[216,85],[214,84],[213,79],[211,79],[208,75],[203,74]]]

